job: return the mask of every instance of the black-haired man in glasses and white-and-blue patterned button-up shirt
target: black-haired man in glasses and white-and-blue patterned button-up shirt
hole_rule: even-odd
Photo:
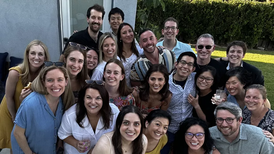
[[[196,55],[193,52],[183,52],[175,62],[175,68],[169,76],[169,90],[172,98],[167,112],[172,120],[168,126],[168,142],[161,150],[161,153],[168,153],[172,145],[175,133],[178,131],[180,122],[192,117],[193,106],[188,103],[188,94],[195,92],[195,70]]]

